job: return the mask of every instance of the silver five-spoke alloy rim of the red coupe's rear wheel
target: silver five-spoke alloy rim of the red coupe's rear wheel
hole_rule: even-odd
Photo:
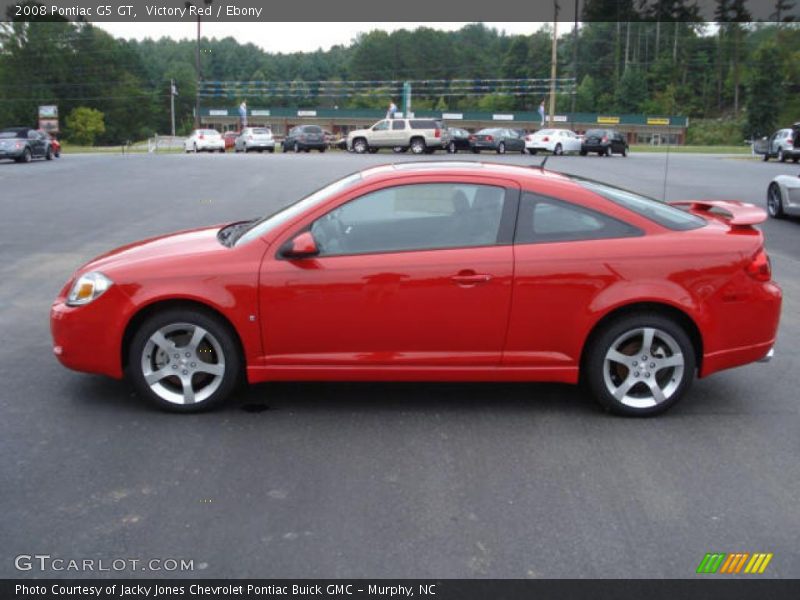
[[[675,338],[655,327],[638,327],[609,347],[603,381],[621,404],[651,408],[672,397],[683,381],[684,364]]]

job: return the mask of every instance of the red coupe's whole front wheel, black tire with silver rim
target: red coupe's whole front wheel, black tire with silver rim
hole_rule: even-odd
[[[136,391],[163,410],[200,412],[219,405],[242,370],[234,334],[205,311],[170,309],[133,336],[128,374]]]

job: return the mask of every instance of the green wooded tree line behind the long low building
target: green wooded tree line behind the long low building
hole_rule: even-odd
[[[557,111],[719,119],[736,123],[745,137],[800,121],[800,28],[780,17],[792,4],[777,0],[773,22],[753,23],[744,0],[717,0],[717,21],[708,23],[688,0],[585,0],[577,30],[558,24],[558,76],[574,78],[575,85],[558,93]],[[609,14],[618,20],[603,22]],[[202,38],[205,81],[291,82],[292,91],[245,90],[203,102],[384,108],[385,91],[362,88],[337,97],[310,82],[547,79],[552,33],[552,24],[531,35],[479,23],[451,32],[375,30],[329,50],[292,53],[269,53],[232,37]],[[98,143],[167,133],[174,80],[177,125],[186,132],[193,124],[195,50],[195,40],[122,40],[89,23],[8,17],[0,24],[0,125],[33,124],[38,105],[57,104],[62,126],[78,108],[102,113]],[[536,110],[546,95],[545,87],[518,95],[483,93],[477,84],[470,93],[433,89],[416,87],[414,107]]]

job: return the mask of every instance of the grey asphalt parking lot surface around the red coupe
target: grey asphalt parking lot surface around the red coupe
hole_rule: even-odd
[[[775,359],[695,382],[656,419],[606,416],[577,389],[544,384],[265,384],[221,411],[170,415],[53,358],[49,305],[93,256],[255,217],[409,159],[0,164],[0,577],[98,575],[14,568],[15,556],[44,553],[194,560],[183,574],[99,574],[120,576],[686,578],[706,552],[772,552],[763,577],[800,577],[798,220],[763,226],[784,289]],[[666,163],[547,166],[668,199],[761,206],[772,177],[800,171],[672,154],[665,186]]]

